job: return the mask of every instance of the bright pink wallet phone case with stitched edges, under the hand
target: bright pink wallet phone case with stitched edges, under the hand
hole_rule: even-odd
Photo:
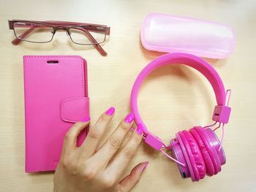
[[[26,172],[55,170],[64,136],[89,119],[86,60],[77,55],[25,55]],[[78,137],[83,142],[88,128]]]

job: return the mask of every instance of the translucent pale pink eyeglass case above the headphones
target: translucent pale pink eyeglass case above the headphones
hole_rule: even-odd
[[[143,20],[140,40],[147,50],[190,53],[205,58],[227,58],[235,47],[230,26],[156,12]]]

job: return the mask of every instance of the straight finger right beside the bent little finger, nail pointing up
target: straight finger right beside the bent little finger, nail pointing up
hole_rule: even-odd
[[[112,120],[115,113],[115,108],[110,107],[105,113],[100,115],[97,123],[89,130],[89,133],[86,137],[86,140],[83,142],[83,145],[80,147],[80,150],[83,150],[83,157],[90,157],[94,154],[99,140],[105,132],[108,123]]]

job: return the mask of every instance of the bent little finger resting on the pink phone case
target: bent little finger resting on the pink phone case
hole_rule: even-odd
[[[63,153],[69,153],[72,150],[75,150],[77,147],[77,137],[78,134],[80,134],[80,131],[83,130],[83,128],[86,128],[90,123],[90,119],[86,122],[77,122],[75,123],[71,128],[69,128],[69,131],[67,131],[67,134],[64,137],[64,143],[63,143]]]

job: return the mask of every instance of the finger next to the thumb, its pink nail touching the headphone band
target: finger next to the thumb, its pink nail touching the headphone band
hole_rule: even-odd
[[[138,126],[136,131],[133,132],[132,137],[128,140],[127,144],[121,149],[121,151],[116,155],[113,161],[108,166],[106,172],[110,175],[116,175],[116,177],[120,177],[124,169],[129,164],[129,161],[132,159],[135,151],[140,145],[141,139],[143,135],[142,126]]]

